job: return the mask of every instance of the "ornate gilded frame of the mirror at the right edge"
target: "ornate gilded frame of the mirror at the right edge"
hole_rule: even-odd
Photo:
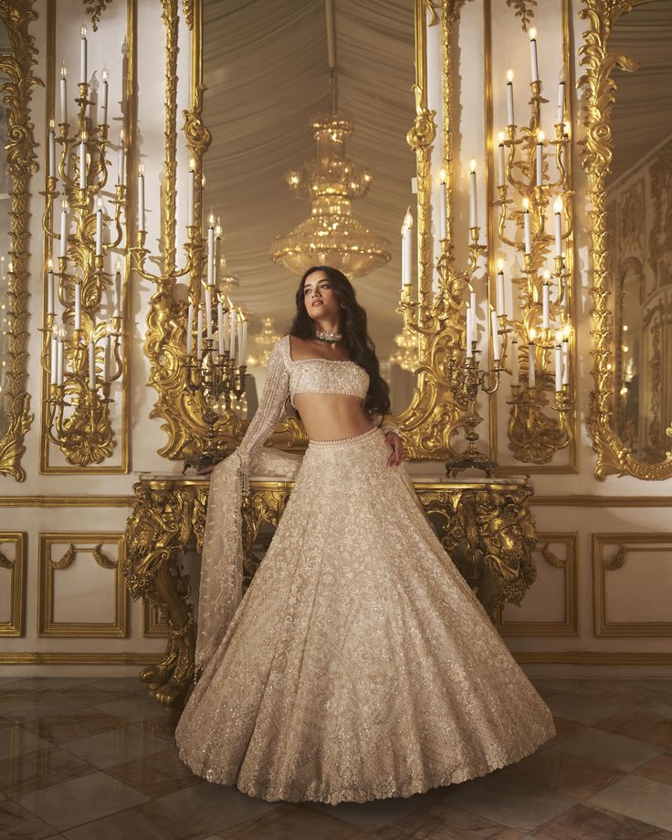
[[[579,12],[588,23],[583,32],[583,46],[579,48],[581,64],[585,69],[578,84],[584,91],[583,122],[586,132],[581,163],[588,176],[592,223],[593,391],[590,394],[586,425],[593,436],[593,450],[597,455],[595,478],[604,480],[607,476],[616,475],[661,481],[672,478],[672,452],[657,464],[638,461],[614,430],[612,423],[614,353],[609,345],[609,322],[612,317],[609,297],[613,296],[610,288],[613,284],[608,269],[606,178],[614,153],[611,111],[616,85],[613,73],[616,68],[635,70],[636,65],[626,56],[612,52],[609,38],[618,18],[630,12],[635,5],[639,5],[637,0],[583,0],[583,8]]]

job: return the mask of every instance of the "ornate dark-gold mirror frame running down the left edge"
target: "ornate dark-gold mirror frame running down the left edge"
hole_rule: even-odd
[[[30,121],[33,85],[42,82],[33,76],[35,38],[28,27],[37,20],[33,0],[0,0],[0,22],[7,30],[11,55],[0,56],[0,94],[6,105],[8,142],[5,146],[5,172],[11,184],[10,255],[12,271],[7,271],[11,301],[9,324],[10,352],[7,361],[10,382],[8,391],[8,428],[0,439],[0,476],[26,480],[21,458],[26,451],[24,439],[35,415],[30,413],[30,394],[26,388],[28,355],[28,242],[30,238],[30,181],[37,172],[35,126]]]

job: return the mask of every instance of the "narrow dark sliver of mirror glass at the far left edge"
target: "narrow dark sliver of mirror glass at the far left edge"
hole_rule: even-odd
[[[6,27],[0,24],[0,55],[10,52],[9,35]],[[0,84],[5,82],[0,75]],[[7,132],[7,106],[0,97],[0,153],[5,158],[5,147],[9,141]],[[7,273],[11,270],[9,257],[12,184],[6,173],[5,159],[0,166],[0,439],[9,427],[9,347],[11,341],[11,307],[9,301]]]

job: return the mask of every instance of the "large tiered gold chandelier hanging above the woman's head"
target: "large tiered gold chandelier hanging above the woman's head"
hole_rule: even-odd
[[[286,176],[298,198],[310,199],[310,216],[286,236],[277,236],[271,259],[295,274],[310,266],[340,268],[351,278],[364,277],[390,260],[389,243],[352,216],[352,201],[367,194],[373,175],[345,156],[352,122],[336,107],[333,4],[327,0],[327,41],[331,110],[310,123],[317,159]]]

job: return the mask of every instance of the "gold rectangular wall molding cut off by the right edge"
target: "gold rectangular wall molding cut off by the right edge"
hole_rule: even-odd
[[[604,548],[614,546],[615,555],[604,557]],[[661,546],[656,548],[656,546]],[[625,565],[626,552],[672,552],[672,534],[609,533],[593,534],[593,621],[594,634],[607,638],[647,638],[672,635],[672,621],[611,622],[606,614],[604,573],[615,572]],[[656,585],[656,581],[651,582]]]

